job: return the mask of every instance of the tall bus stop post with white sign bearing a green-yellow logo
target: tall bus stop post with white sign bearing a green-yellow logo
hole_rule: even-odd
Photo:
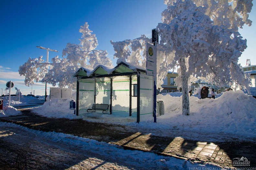
[[[147,75],[154,76],[154,123],[156,123],[156,44],[158,43],[158,31],[152,30],[152,44],[147,43]]]

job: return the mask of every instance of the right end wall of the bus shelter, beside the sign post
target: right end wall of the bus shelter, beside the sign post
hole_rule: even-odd
[[[140,76],[140,120],[145,117],[153,118],[153,76],[141,74]]]

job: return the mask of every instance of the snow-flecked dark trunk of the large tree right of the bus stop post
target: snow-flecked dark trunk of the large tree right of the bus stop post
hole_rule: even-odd
[[[182,79],[182,114],[189,115],[188,75],[186,72],[185,58],[180,59]]]

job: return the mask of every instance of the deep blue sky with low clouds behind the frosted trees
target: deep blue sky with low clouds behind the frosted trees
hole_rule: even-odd
[[[151,37],[151,30],[161,22],[161,12],[166,8],[163,0],[55,0],[55,1],[20,1],[1,0],[0,5],[0,89],[5,89],[9,80],[23,94],[29,94],[31,87],[24,86],[24,77],[18,74],[19,66],[29,57],[43,56],[43,46],[58,50],[49,52],[51,58],[62,56],[67,43],[79,44],[80,26],[88,22],[89,29],[96,34],[98,50],[107,50],[113,59],[113,47],[110,40],[123,41],[134,39],[141,34]],[[255,46],[255,6],[249,18],[253,26],[244,26],[240,32],[248,40],[248,48],[243,53],[240,63],[245,66],[246,59],[256,64]],[[113,62],[115,65],[115,61]],[[44,85],[33,85],[35,95],[44,94]],[[15,90],[12,91],[14,94]],[[3,92],[5,93],[5,92]],[[1,94],[1,91],[0,91]],[[49,93],[48,93],[49,94]]]

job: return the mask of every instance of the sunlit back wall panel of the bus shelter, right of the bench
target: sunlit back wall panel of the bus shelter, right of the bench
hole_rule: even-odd
[[[113,114],[129,116],[130,77],[117,76],[113,78],[112,90]]]

